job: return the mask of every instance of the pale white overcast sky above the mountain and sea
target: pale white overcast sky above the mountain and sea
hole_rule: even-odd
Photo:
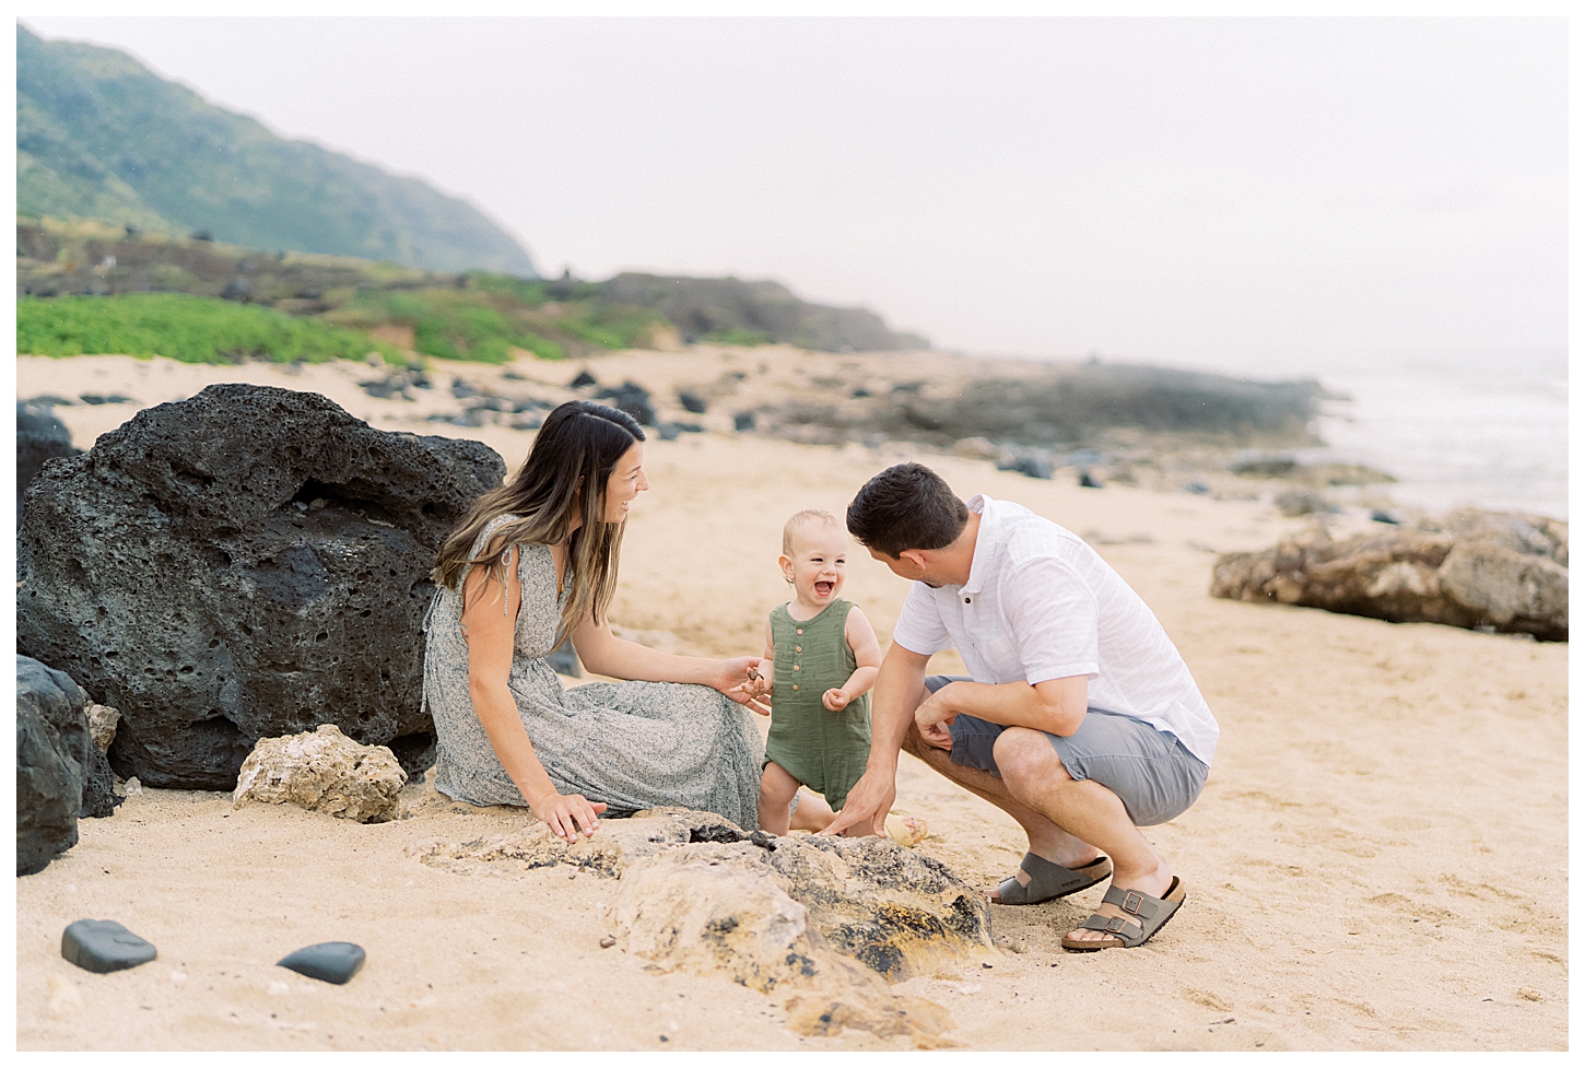
[[[1563,345],[1563,19],[29,17],[418,174],[540,269],[938,347],[1322,371]]]

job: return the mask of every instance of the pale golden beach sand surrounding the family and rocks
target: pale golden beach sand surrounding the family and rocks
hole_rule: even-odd
[[[764,361],[764,350],[693,350],[591,368],[659,396],[666,383],[739,366],[753,376]],[[358,390],[376,376],[360,364],[287,374],[21,358],[17,396],[138,401],[57,409],[87,447],[139,406],[209,382],[309,388],[377,426],[479,437],[515,467],[528,433],[412,421],[453,406],[449,371],[436,374],[436,396],[404,402]],[[515,371],[564,383],[574,368]],[[780,388],[810,388],[786,377]],[[766,612],[786,596],[773,563],[786,515],[840,512],[862,480],[913,453],[712,426],[647,447],[651,490],[632,509],[613,618],[683,651],[756,653]],[[1258,501],[1081,490],[978,460],[919,458],[962,496],[1018,501],[1086,534],[1162,620],[1222,738],[1200,802],[1148,830],[1187,889],[1154,941],[1065,954],[1059,940],[1095,891],[994,906],[997,952],[899,994],[946,1008],[946,1036],[968,1049],[1568,1047],[1566,645],[1214,601],[1214,551],[1270,545],[1301,520]],[[905,593],[854,553],[845,596],[883,642]],[[953,656],[934,666],[954,667]],[[533,818],[453,805],[422,783],[404,805],[407,819],[357,826],[144,789],[114,818],[82,821],[71,851],[17,879],[19,1049],[908,1047],[853,1030],[804,1038],[773,995],[720,976],[650,975],[620,948],[601,949],[612,881],[425,867],[409,845]],[[897,807],[929,821],[918,849],[976,886],[994,887],[1022,856],[1011,819],[911,757]],[[60,932],[81,917],[117,919],[160,957],[108,976],[78,970],[60,959]],[[274,967],[331,940],[369,954],[344,987]]]

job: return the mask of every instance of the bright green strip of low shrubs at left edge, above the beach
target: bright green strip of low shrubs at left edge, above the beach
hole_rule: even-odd
[[[16,350],[41,357],[124,353],[184,363],[322,363],[363,360],[395,345],[368,334],[252,304],[185,293],[24,296],[16,306]]]

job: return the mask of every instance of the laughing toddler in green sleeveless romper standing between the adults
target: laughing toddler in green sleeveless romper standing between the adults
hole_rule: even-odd
[[[792,601],[770,612],[758,694],[770,692],[770,735],[759,778],[759,826],[785,835],[799,786],[831,805],[804,805],[797,826],[821,830],[864,775],[870,688],[881,648],[870,621],[843,601],[848,536],[827,512],[799,512],[781,529],[781,577]]]

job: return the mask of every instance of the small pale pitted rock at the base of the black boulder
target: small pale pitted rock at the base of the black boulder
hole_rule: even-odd
[[[333,724],[285,738],[260,738],[243,761],[233,808],[247,802],[298,805],[360,824],[396,814],[407,773],[384,745],[358,745]]]

